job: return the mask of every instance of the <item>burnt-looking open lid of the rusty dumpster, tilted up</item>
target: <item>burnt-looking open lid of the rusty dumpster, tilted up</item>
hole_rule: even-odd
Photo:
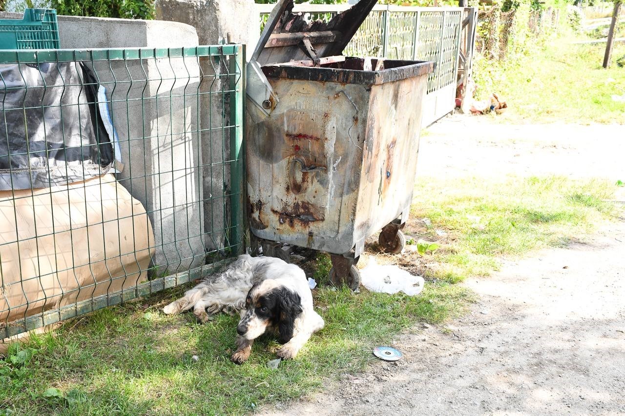
[[[292,0],[280,0],[267,19],[251,59],[264,66],[340,55],[376,2],[360,0],[326,23],[306,21],[306,14],[292,12]]]

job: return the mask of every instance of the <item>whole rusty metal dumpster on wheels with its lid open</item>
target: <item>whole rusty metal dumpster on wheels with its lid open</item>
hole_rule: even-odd
[[[345,57],[376,4],[307,22],[281,0],[247,67],[247,204],[263,247],[331,254],[332,282],[359,284],[364,241],[401,252],[432,62]],[[265,250],[267,251],[267,250]]]

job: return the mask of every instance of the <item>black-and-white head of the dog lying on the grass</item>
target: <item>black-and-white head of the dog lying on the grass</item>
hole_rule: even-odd
[[[277,327],[279,342],[286,344],[293,337],[295,320],[302,313],[299,295],[271,279],[252,286],[245,306],[236,331],[249,340],[256,339],[269,327]]]

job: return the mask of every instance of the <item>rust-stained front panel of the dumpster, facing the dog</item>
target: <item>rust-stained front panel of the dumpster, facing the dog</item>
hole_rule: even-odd
[[[366,86],[270,78],[270,117],[247,106],[250,229],[259,238],[332,253],[354,246]]]

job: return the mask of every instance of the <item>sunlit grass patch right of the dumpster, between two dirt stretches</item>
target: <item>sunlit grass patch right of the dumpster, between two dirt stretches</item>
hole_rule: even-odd
[[[447,231],[447,244],[431,256],[436,265],[429,274],[456,283],[467,276],[488,275],[501,256],[579,239],[614,215],[614,204],[605,201],[615,190],[615,184],[604,181],[557,176],[448,183],[422,179],[415,196],[422,202],[412,207],[411,216],[429,218],[430,231]]]

